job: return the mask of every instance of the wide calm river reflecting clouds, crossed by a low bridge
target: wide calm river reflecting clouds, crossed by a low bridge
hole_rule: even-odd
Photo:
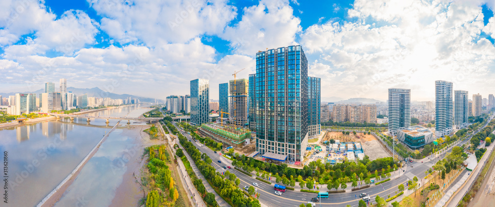
[[[148,110],[133,105],[88,115],[138,117]],[[8,153],[8,206],[36,206],[118,121],[110,119],[106,124],[104,119],[86,120],[62,118],[0,129],[0,151]],[[56,206],[110,206],[129,160],[141,158],[140,131],[146,127],[146,123],[132,120],[131,126],[127,120],[120,125],[81,169]],[[136,191],[127,194],[139,193]],[[139,198],[135,197],[128,201],[137,203]]]

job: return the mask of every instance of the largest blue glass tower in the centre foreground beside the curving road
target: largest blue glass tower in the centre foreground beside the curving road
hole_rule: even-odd
[[[301,46],[256,53],[256,151],[302,161],[308,143],[308,62]]]

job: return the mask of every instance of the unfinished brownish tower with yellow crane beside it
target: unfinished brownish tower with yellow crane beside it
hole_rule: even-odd
[[[247,79],[231,80],[229,83],[229,121],[236,126],[247,124],[247,95],[249,83]]]

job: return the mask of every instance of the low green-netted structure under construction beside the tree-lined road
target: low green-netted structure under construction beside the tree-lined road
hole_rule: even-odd
[[[222,127],[216,124],[201,124],[201,131],[227,146],[241,148],[251,139],[251,132],[235,127]]]

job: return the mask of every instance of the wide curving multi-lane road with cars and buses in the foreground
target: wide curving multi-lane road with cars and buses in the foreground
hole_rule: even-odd
[[[494,115],[492,115],[487,122],[487,124],[494,118]],[[173,123],[176,127],[177,125]],[[483,127],[480,127],[476,132],[471,133],[467,139],[464,141],[460,142],[458,146],[461,146],[465,143],[468,143],[469,140],[472,138],[473,134],[478,133],[481,129],[486,127],[486,125]],[[300,191],[291,191],[287,190],[285,193],[282,194],[282,196],[277,196],[274,194],[274,189],[273,189],[273,184],[274,182],[272,181],[272,185],[268,185],[264,182],[261,182],[259,180],[254,179],[253,177],[249,177],[246,174],[237,171],[234,169],[232,165],[232,161],[230,159],[227,159],[219,154],[214,153],[212,150],[210,150],[208,147],[204,146],[198,142],[195,142],[192,137],[181,130],[179,127],[177,127],[178,131],[182,133],[188,140],[190,140],[201,153],[205,153],[208,155],[212,162],[211,165],[219,172],[224,172],[226,170],[229,170],[231,173],[234,173],[240,180],[241,184],[239,185],[239,188],[244,190],[244,186],[250,186],[252,185],[253,182],[258,183],[257,187],[257,192],[260,193],[259,201],[263,204],[265,204],[268,207],[288,207],[288,206],[298,206],[301,203],[307,203],[308,201],[311,200],[311,198],[316,197],[316,194],[314,193],[304,193]],[[450,152],[452,148],[450,148],[447,152]],[[219,152],[218,152],[219,153]],[[357,206],[358,201],[360,200],[359,196],[361,193],[366,193],[371,197],[371,202],[374,204],[375,202],[375,197],[380,196],[384,199],[387,199],[387,195],[390,194],[390,196],[396,195],[395,192],[398,190],[397,186],[400,184],[406,184],[408,180],[412,180],[414,176],[417,176],[419,180],[421,180],[425,176],[425,171],[428,170],[430,167],[435,165],[435,162],[443,159],[445,157],[446,153],[441,154],[438,157],[434,157],[432,160],[429,160],[426,158],[423,159],[424,163],[421,163],[420,161],[418,162],[412,162],[412,163],[407,163],[404,165],[402,168],[400,168],[400,173],[399,177],[394,179],[394,177],[391,177],[392,180],[387,181],[385,183],[382,183],[381,185],[374,186],[372,185],[369,188],[366,189],[361,189],[357,191],[352,191],[352,192],[347,192],[347,193],[338,193],[338,194],[329,194],[328,199],[321,199],[321,206],[325,207],[333,207],[333,206]],[[220,160],[222,163],[218,163],[218,160]],[[223,169],[223,166],[232,166],[232,169]],[[404,170],[404,172],[402,172]],[[419,184],[422,186],[423,183],[419,182]],[[315,189],[316,190],[316,189]],[[327,188],[320,189],[320,191],[328,191]],[[317,204],[318,205],[318,204]]]

